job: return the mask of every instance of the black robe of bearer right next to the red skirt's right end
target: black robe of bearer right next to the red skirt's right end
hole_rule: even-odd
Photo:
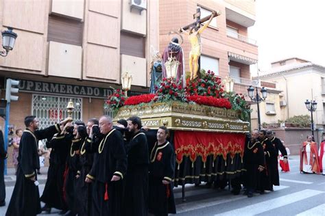
[[[265,172],[265,170],[263,172],[258,171],[258,167],[265,168],[263,146],[258,140],[253,141],[253,143],[248,141],[245,144],[243,163],[245,187],[249,192],[253,192],[260,185],[261,175]]]

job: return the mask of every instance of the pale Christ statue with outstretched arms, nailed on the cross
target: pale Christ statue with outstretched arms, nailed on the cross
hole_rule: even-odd
[[[212,12],[210,18],[208,19],[208,22],[206,22],[202,27],[200,26],[201,23],[203,23],[202,20],[198,20],[196,23],[193,23],[194,25],[191,25],[189,29],[184,30],[184,28],[181,28],[180,30],[187,34],[189,36],[189,41],[191,43],[191,51],[189,53],[189,69],[191,72],[190,79],[196,79],[197,78],[197,70],[199,70],[199,57],[201,55],[201,33],[208,27],[208,25],[211,23],[213,18],[215,16],[218,16],[219,14],[215,11]],[[200,16],[200,15],[199,15]]]

